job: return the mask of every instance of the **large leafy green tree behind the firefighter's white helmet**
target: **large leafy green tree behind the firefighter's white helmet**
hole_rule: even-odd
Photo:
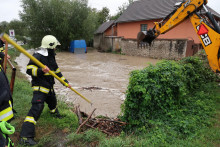
[[[87,3],[87,0],[22,0],[20,17],[28,26],[31,44],[39,47],[43,36],[50,34],[61,42],[61,49],[68,50],[71,40],[84,39],[88,31],[84,28],[89,15]]]

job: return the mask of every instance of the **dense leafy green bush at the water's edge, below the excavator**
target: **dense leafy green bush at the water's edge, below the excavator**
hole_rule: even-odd
[[[166,134],[195,134],[209,124],[214,112],[213,98],[206,91],[213,89],[208,83],[215,79],[198,57],[162,61],[131,72],[122,110],[122,119],[128,122],[125,131],[160,127]]]

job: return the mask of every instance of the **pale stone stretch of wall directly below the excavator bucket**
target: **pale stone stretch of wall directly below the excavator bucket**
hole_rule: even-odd
[[[181,59],[186,55],[187,40],[160,39],[152,42],[151,46],[142,44],[137,48],[136,40],[123,40],[122,53],[132,56],[144,56],[158,59]]]

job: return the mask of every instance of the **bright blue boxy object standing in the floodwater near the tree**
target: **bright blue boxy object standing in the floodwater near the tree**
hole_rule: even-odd
[[[76,48],[84,49],[85,53],[87,53],[87,46],[85,40],[73,40],[70,43],[70,52],[74,53]]]

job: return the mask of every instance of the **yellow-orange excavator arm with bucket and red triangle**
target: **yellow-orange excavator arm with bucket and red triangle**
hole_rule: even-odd
[[[206,51],[210,67],[214,72],[220,72],[220,27],[205,7],[207,2],[207,0],[187,0],[179,3],[162,21],[155,22],[154,28],[147,31],[141,38],[142,41],[151,44],[160,34],[168,32],[189,18]],[[198,13],[202,8],[206,11],[208,20]]]

